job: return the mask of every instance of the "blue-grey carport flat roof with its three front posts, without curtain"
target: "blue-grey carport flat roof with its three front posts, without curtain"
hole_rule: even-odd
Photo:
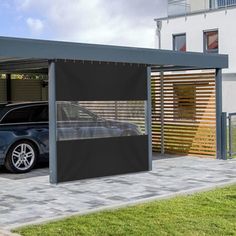
[[[149,166],[151,166],[151,68],[159,70],[216,69],[216,130],[217,158],[221,158],[222,142],[222,81],[221,69],[228,67],[228,56],[196,52],[92,45],[58,41],[0,37],[0,72],[47,73],[49,67],[49,129],[50,178],[56,183],[56,92],[54,60],[130,63],[147,65],[146,125],[149,135]],[[51,62],[51,63],[49,63]],[[151,68],[150,68],[151,67]]]

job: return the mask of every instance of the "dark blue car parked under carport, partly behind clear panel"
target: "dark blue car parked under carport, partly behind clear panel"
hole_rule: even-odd
[[[73,102],[57,103],[57,140],[141,135],[132,123],[103,119]],[[0,165],[26,173],[49,160],[48,103],[0,105]]]

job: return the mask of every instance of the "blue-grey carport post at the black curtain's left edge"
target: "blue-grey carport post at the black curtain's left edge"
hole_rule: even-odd
[[[50,62],[48,70],[49,78],[49,170],[50,170],[50,183],[57,183],[57,125],[56,125],[56,76],[55,76],[55,63]]]

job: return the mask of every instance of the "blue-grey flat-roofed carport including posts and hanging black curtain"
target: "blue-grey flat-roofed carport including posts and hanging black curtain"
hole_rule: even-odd
[[[48,73],[51,183],[151,170],[151,72],[215,70],[216,156],[223,158],[221,70],[227,66],[226,55],[0,37],[1,73]],[[139,117],[138,110],[132,117],[143,132],[106,138],[63,136],[58,104],[67,102],[99,104],[105,111],[112,102],[115,107],[125,102],[131,110],[141,107],[144,116]],[[129,112],[124,112],[126,117]]]

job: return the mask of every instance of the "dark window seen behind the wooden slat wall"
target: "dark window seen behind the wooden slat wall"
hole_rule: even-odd
[[[174,119],[195,120],[196,86],[193,84],[174,85]]]

